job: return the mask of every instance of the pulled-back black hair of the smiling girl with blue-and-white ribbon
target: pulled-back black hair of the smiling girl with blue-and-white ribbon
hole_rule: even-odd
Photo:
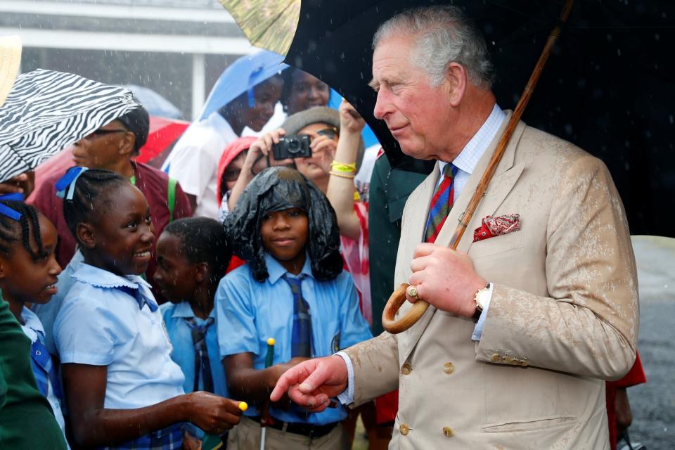
[[[115,192],[116,187],[129,185],[129,180],[110,170],[89,169],[73,182],[75,191],[72,200],[63,200],[63,217],[77,240],[77,225],[96,221],[98,214],[110,203],[108,194]]]

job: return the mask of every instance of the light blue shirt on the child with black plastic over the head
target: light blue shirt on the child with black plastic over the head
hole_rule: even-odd
[[[227,274],[220,282],[215,297],[220,356],[250,352],[253,368],[265,366],[267,339],[274,338],[273,364],[290,361],[293,333],[293,293],[281,279],[287,271],[274,257],[265,256],[269,278],[258,283],[248,264]],[[359,310],[359,297],[352,276],[343,271],[332,281],[317,281],[311,274],[309,255],[302,266],[302,297],[309,304],[313,356],[328,356],[372,337],[371,330]],[[288,274],[295,277],[294,275]],[[295,277],[297,278],[297,277]],[[347,417],[344,406],[309,413],[299,406],[290,411],[270,408],[277,420],[325,425]],[[259,416],[250,406],[246,416]]]

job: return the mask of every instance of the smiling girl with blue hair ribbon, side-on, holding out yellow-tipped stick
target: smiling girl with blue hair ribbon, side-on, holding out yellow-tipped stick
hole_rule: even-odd
[[[158,304],[139,276],[154,239],[143,193],[114,172],[82,167],[56,188],[84,257],[54,323],[77,443],[180,449],[184,422],[214,433],[238,423],[235,402],[184,394]]]

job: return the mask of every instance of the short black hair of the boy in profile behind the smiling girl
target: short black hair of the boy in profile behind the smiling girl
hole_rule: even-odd
[[[213,278],[225,276],[232,250],[222,224],[209,217],[186,217],[172,221],[164,229],[181,240],[180,251],[191,263],[207,262]]]

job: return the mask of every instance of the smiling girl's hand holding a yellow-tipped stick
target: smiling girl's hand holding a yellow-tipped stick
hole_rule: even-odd
[[[187,395],[188,420],[205,432],[222,435],[239,423],[242,411],[237,401],[204,391]]]

